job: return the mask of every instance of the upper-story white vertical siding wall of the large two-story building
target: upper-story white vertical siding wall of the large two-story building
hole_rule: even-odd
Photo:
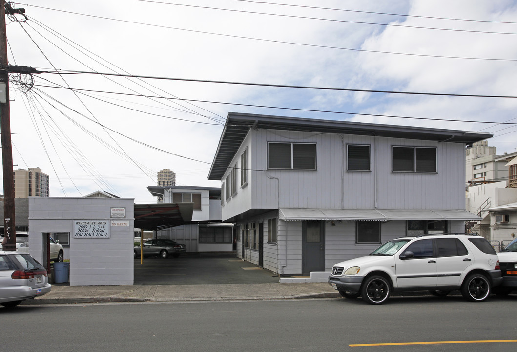
[[[316,143],[317,170],[268,170],[268,142]],[[371,171],[346,170],[347,144],[371,146]],[[392,172],[393,145],[436,147],[437,172]],[[237,194],[224,202],[223,219],[249,209],[465,207],[463,144],[259,129],[250,131],[231,166],[240,167],[244,148],[248,148],[248,167],[253,171],[248,173],[247,187],[238,187]]]

